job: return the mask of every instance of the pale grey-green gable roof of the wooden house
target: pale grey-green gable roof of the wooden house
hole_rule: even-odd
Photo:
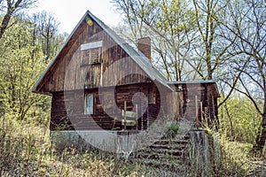
[[[86,20],[87,17],[90,17],[91,19],[95,20],[96,23],[98,23],[99,27],[102,27],[103,30],[106,32],[107,35],[109,35],[114,42],[116,42],[118,45],[121,46],[123,50],[125,50],[126,53],[129,54],[129,57],[132,58],[137,65],[148,75],[148,77],[152,81],[157,81],[164,87],[170,89],[168,86],[168,80],[157,70],[153,67],[153,65],[150,63],[149,59],[145,57],[145,55],[141,51],[135,50],[132,46],[129,45],[128,42],[125,42],[119,35],[117,35],[110,27],[106,26],[104,22],[102,22],[100,19],[95,17],[90,11],[87,11],[82,19],[79,21],[79,23],[74,27],[74,30],[72,33],[67,37],[66,42],[63,43],[62,47],[56,54],[54,58],[52,58],[51,63],[46,67],[43,74],[40,76],[38,81],[35,82],[35,85],[31,89],[33,92],[36,92],[37,86],[43,81],[43,78],[48,73],[48,71],[51,69],[51,66],[55,63],[56,59],[59,57],[60,52],[66,47],[66,44],[70,41],[71,37],[74,35],[75,31],[82,25],[82,22]]]

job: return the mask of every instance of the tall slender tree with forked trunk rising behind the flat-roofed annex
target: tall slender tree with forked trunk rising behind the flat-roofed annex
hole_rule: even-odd
[[[193,0],[194,10],[196,12],[197,31],[199,38],[195,43],[194,55],[201,64],[200,70],[205,73],[205,78],[208,80],[214,79],[214,76],[223,73],[222,65],[231,58],[228,50],[234,43],[235,38],[231,41],[226,40],[223,35],[224,28],[221,27],[219,20],[228,19],[224,16],[224,11],[228,5],[228,1]],[[219,73],[216,69],[220,69]]]

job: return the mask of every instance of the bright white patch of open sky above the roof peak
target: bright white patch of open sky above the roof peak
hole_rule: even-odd
[[[114,12],[115,8],[110,0],[39,0],[38,7],[33,12],[43,10],[53,13],[60,22],[60,33],[67,34],[72,32],[87,10],[110,27],[117,26],[121,21],[119,12]]]

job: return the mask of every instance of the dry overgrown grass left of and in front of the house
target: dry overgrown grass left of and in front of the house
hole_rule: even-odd
[[[123,159],[73,148],[51,149],[50,132],[26,121],[0,119],[0,176],[136,176]]]

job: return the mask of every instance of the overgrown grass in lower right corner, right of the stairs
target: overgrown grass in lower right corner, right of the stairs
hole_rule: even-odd
[[[262,157],[254,157],[250,151],[252,144],[231,141],[220,135],[221,165],[218,167],[220,176],[263,176],[265,172],[265,150]]]

